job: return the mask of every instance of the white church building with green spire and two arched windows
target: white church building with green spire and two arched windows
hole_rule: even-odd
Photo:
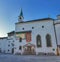
[[[21,11],[18,22],[15,23],[15,31],[8,33],[7,40],[0,43],[6,44],[0,47],[5,53],[21,55],[39,55],[60,53],[60,16],[57,19],[43,18],[23,21]],[[5,42],[5,43],[4,43]]]

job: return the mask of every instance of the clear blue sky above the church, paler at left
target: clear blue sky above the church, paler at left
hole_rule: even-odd
[[[0,37],[15,30],[20,8],[23,10],[24,21],[48,15],[56,18],[60,14],[60,0],[0,0]]]

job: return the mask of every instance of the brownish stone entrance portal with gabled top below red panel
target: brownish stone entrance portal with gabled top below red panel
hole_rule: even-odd
[[[25,55],[35,55],[36,54],[36,51],[35,51],[35,45],[33,44],[26,44],[23,46],[23,54]]]

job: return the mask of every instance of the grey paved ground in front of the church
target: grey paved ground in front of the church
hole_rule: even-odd
[[[0,62],[60,62],[60,56],[0,55]]]

